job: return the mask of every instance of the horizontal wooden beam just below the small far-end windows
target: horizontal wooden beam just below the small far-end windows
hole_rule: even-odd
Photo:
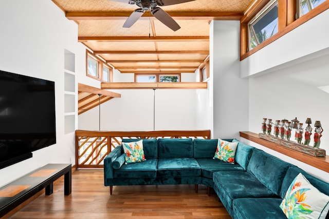
[[[173,83],[141,83],[141,82],[114,82],[101,83],[101,89],[207,89],[207,82],[173,82]]]

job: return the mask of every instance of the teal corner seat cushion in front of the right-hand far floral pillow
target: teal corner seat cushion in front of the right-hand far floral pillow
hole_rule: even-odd
[[[212,173],[218,171],[245,171],[239,164],[230,164],[213,158],[196,158],[201,167],[201,175],[212,179]]]

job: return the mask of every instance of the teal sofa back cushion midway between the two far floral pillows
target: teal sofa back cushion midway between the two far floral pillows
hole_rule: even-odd
[[[159,138],[159,158],[193,157],[192,138]]]

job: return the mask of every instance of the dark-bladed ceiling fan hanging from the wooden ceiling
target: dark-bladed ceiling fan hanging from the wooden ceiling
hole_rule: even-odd
[[[180,26],[175,22],[175,20],[164,10],[157,6],[168,6],[176,5],[180,3],[192,2],[195,0],[111,0],[114,2],[122,2],[128,4],[136,4],[138,9],[133,11],[133,13],[126,19],[123,27],[129,28],[137,22],[137,20],[144,14],[145,11],[151,10],[153,16],[155,16],[164,25],[176,31]]]

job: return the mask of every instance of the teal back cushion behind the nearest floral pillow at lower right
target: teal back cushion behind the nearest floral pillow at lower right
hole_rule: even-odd
[[[320,192],[322,192],[326,195],[329,195],[329,183],[326,183],[326,182],[320,180],[319,178],[309,175],[304,170],[302,170],[294,165],[290,165],[290,167],[287,170],[286,175],[284,176],[282,187],[281,187],[280,196],[282,198],[285,196],[291,182],[293,182],[293,180],[299,173],[302,173],[307,178],[309,183],[312,184],[314,187],[316,187]]]

